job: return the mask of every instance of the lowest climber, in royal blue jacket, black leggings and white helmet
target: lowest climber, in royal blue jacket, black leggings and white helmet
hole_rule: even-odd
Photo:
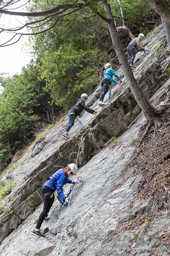
[[[75,164],[70,164],[64,169],[59,169],[52,176],[47,178],[47,181],[42,186],[42,193],[44,194],[44,206],[40,213],[36,228],[32,231],[31,235],[36,235],[38,237],[45,237],[41,234],[40,228],[43,220],[48,218],[48,213],[54,203],[54,191],[57,189],[58,196],[61,201],[69,203],[68,197],[65,197],[62,187],[67,183],[75,184],[76,181],[69,180],[68,177],[77,173],[77,166]]]

